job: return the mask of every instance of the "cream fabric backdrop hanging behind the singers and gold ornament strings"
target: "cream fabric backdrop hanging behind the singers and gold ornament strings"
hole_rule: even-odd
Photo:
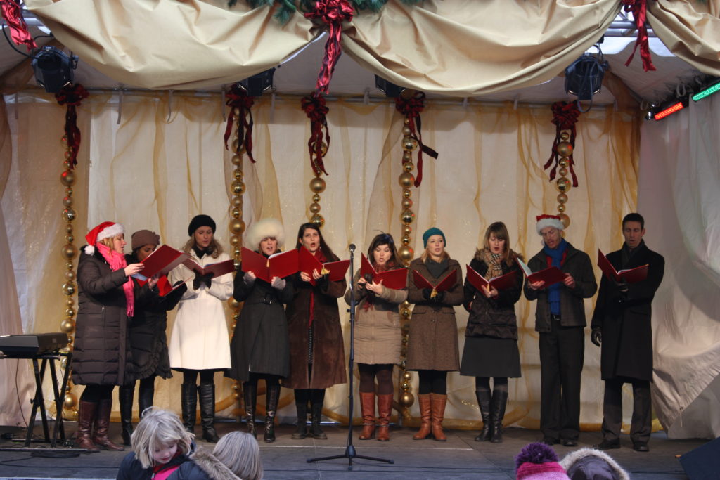
[[[87,215],[76,222],[76,245],[82,244],[85,227],[112,219],[122,222],[127,232],[151,228],[164,242],[179,246],[187,239],[189,218],[200,212],[215,218],[217,235],[227,245],[227,187],[232,164],[222,146],[220,102],[176,94],[170,107],[166,95],[125,96],[117,124],[117,98],[94,96],[84,101],[79,109],[84,151],[78,158],[81,175],[76,207],[78,212],[86,208]],[[325,164],[330,175],[321,195],[320,213],[326,220],[323,235],[341,258],[347,258],[349,243],[364,251],[378,230],[399,237],[397,176],[401,171],[402,117],[390,101],[367,105],[334,101],[329,107],[332,141]],[[10,237],[25,239],[25,245],[22,241],[11,243],[14,258],[27,256],[24,250],[40,250],[37,255],[42,259],[26,261],[34,273],[19,276],[19,291],[28,294],[21,299],[25,330],[53,331],[58,329],[63,310],[63,263],[57,254],[63,243],[59,222],[63,189],[58,181],[63,150],[54,139],[61,135],[64,109],[38,100],[20,104],[18,112],[18,119],[11,114],[9,122],[17,151],[22,153],[14,155],[13,170],[22,181],[6,189],[6,227]],[[311,196],[307,118],[298,98],[282,96],[277,97],[274,108],[269,99],[261,98],[253,107],[253,117],[253,153],[258,163],[250,165],[246,160],[244,165],[245,220],[250,225],[260,217],[282,219],[289,239],[286,246],[291,247],[298,225],[307,219]],[[40,128],[41,118],[47,126],[46,142],[23,133]],[[510,229],[513,248],[528,256],[536,253],[541,245],[534,217],[557,207],[557,191],[541,168],[554,138],[551,118],[549,107],[513,109],[511,105],[471,102],[464,108],[428,101],[423,112],[423,140],[438,150],[440,158],[426,158],[423,184],[413,189],[415,252],[422,248],[419,237],[423,230],[437,225],[446,233],[449,253],[467,263],[485,227],[503,220]],[[583,114],[577,127],[575,160],[580,186],[569,194],[567,213],[572,225],[567,238],[594,257],[598,247],[611,250],[620,245],[621,217],[634,209],[639,127],[630,114],[612,109]],[[83,205],[85,188],[87,207]],[[37,235],[40,229],[47,233]],[[22,271],[25,267],[19,263],[15,268]],[[40,291],[45,302],[35,301]],[[588,317],[592,307],[593,300],[586,301]],[[347,334],[346,306],[340,308]],[[534,304],[521,300],[517,312],[523,378],[510,382],[507,418],[508,423],[537,427],[539,354]],[[467,321],[462,308],[457,310],[457,319],[462,345]],[[599,427],[601,420],[598,365],[599,350],[588,341],[582,385],[586,428]],[[220,381],[219,375],[217,379]],[[416,381],[413,375],[414,389]],[[156,403],[179,410],[179,382],[179,376],[158,381]],[[220,415],[231,416],[230,381],[220,384]],[[477,426],[473,379],[452,373],[449,391],[448,424]],[[76,392],[79,394],[79,387]],[[346,386],[330,389],[326,413],[336,420],[346,419],[346,398]],[[283,391],[282,404],[281,416],[292,420],[292,391]],[[411,415],[417,417],[417,405]]]

